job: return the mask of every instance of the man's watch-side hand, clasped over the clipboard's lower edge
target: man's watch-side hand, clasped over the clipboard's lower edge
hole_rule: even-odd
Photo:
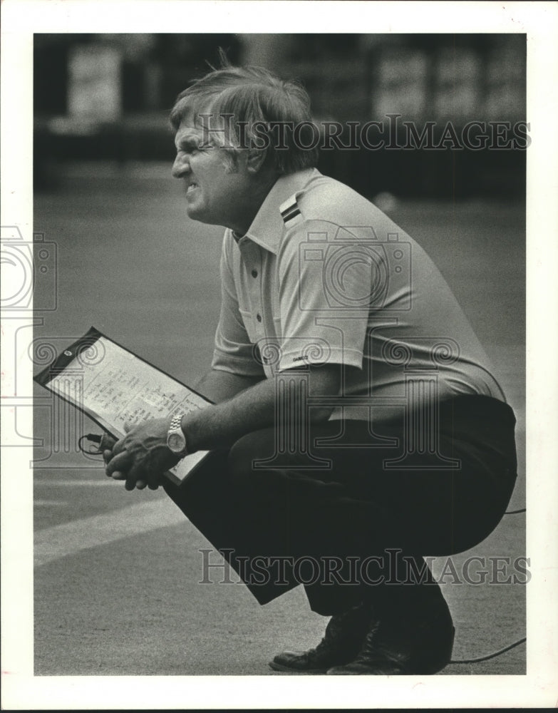
[[[153,419],[129,429],[111,449],[103,443],[105,473],[115,481],[126,481],[126,490],[149,486],[156,490],[162,473],[175,466],[180,458],[167,448],[167,431],[170,419]]]

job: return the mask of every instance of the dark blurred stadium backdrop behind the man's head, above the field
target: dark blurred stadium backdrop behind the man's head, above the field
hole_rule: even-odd
[[[188,83],[217,66],[298,78],[317,120],[525,120],[525,35],[36,34],[36,188],[63,160],[170,160],[167,116]],[[402,128],[402,127],[401,127]],[[403,144],[403,132],[400,135]],[[361,193],[460,198],[522,195],[525,152],[322,151],[323,173]]]

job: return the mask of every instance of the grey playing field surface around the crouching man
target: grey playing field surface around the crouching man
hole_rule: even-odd
[[[212,353],[222,230],[187,219],[166,166],[76,165],[58,178],[56,191],[35,200],[34,230],[58,247],[58,307],[35,337],[61,348],[94,325],[194,382]],[[408,202],[391,215],[434,257],[495,363],[517,416],[510,509],[522,508],[525,211]],[[242,585],[200,585],[200,533],[164,493],[126,493],[98,462],[53,444],[50,401],[38,387],[35,396],[35,435],[45,441],[34,486],[36,675],[278,675],[267,667],[274,652],[321,637],[324,620],[309,612],[300,588],[259,607]],[[455,563],[473,554],[525,555],[525,515],[505,517]],[[448,582],[445,595],[457,628],[454,658],[525,635],[524,586]],[[443,674],[524,672],[520,646]]]

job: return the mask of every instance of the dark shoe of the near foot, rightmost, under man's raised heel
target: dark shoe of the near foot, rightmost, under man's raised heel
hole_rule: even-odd
[[[445,604],[445,602],[444,602]],[[329,675],[425,675],[451,660],[455,628],[447,607],[373,622],[358,655]]]

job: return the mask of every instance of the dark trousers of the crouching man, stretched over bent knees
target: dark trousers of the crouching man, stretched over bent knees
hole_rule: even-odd
[[[408,599],[424,588],[396,583],[432,583],[423,555],[494,530],[515,484],[514,426],[506,404],[459,396],[440,404],[435,437],[403,418],[373,434],[329,421],[289,452],[262,429],[165,491],[261,604],[302,583],[311,609],[332,615],[366,597]]]

